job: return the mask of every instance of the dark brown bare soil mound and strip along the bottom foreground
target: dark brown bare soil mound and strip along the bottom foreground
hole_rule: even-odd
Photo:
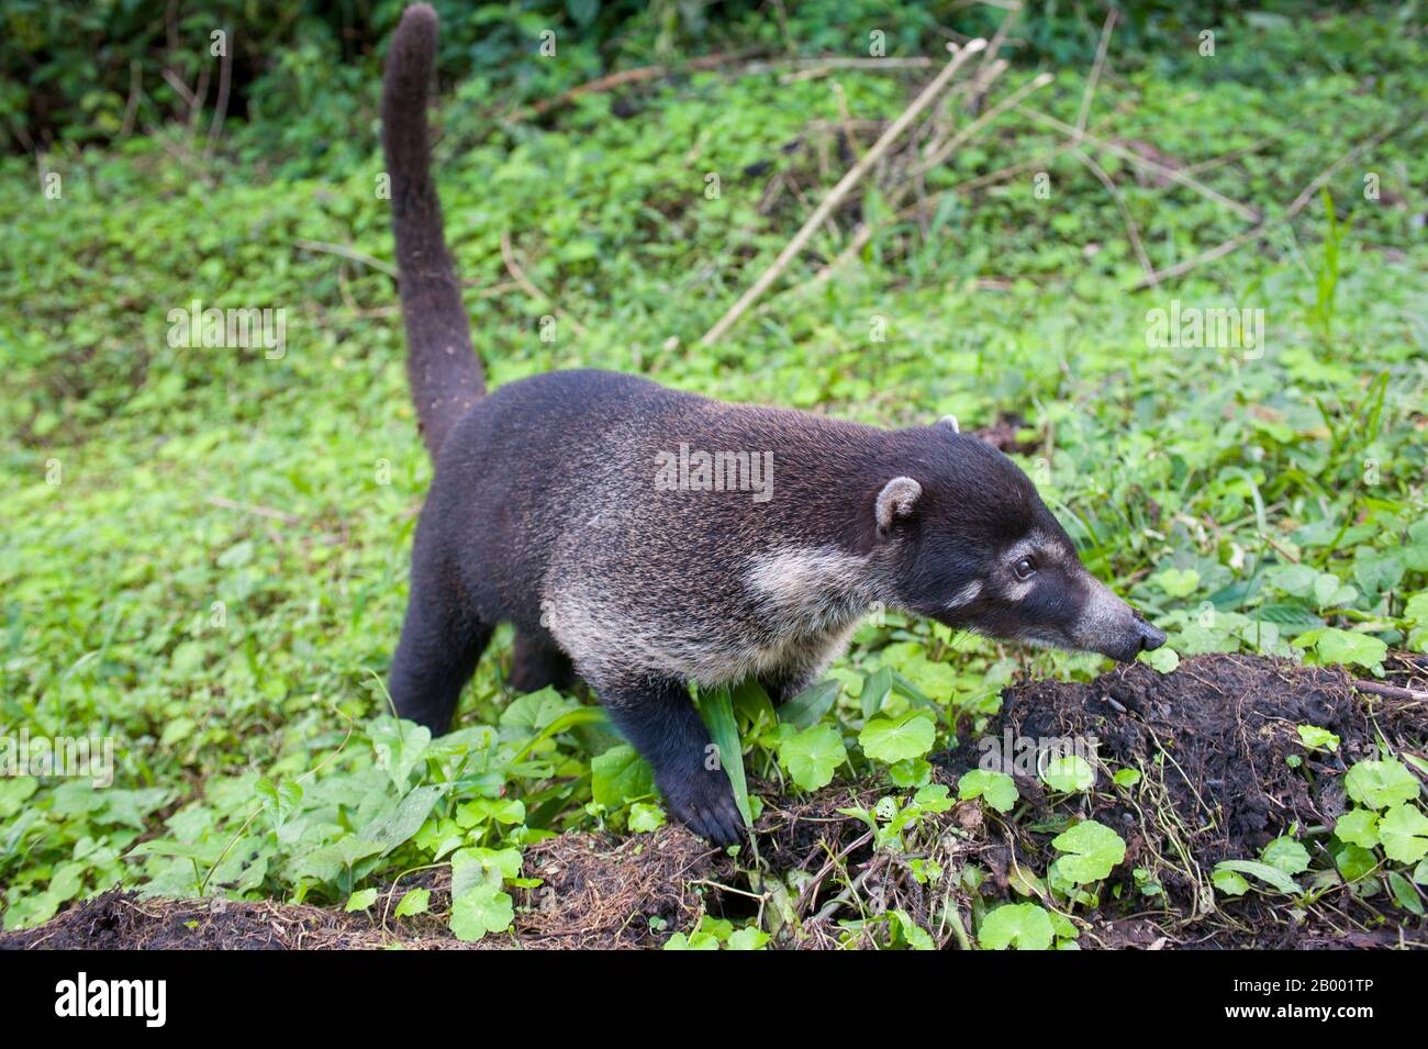
[[[925,835],[918,856],[873,846],[868,825],[840,809],[871,808],[885,785],[828,788],[811,796],[763,789],[755,856],[730,859],[678,826],[651,835],[565,833],[526,851],[526,878],[541,885],[517,899],[510,933],[480,948],[653,948],[673,932],[693,931],[701,915],[758,911],[780,946],[838,946],[841,925],[881,911],[905,911],[947,946],[967,942],[971,889],[967,866],[985,875],[982,902],[1021,899],[1018,871],[1044,872],[1050,839],[1072,816],[1094,816],[1127,841],[1125,862],[1102,886],[1101,908],[1080,911],[1082,948],[1339,948],[1422,945],[1422,919],[1392,908],[1385,893],[1364,898],[1327,888],[1315,906],[1250,893],[1217,898],[1210,873],[1221,859],[1254,859],[1272,838],[1297,828],[1311,853],[1328,841],[1344,811],[1342,775],[1371,754],[1381,735],[1395,749],[1424,754],[1428,702],[1404,689],[1428,686],[1428,658],[1395,654],[1387,664],[1388,695],[1355,689],[1337,668],[1298,668],[1274,659],[1211,655],[1187,659],[1171,675],[1132,664],[1091,684],[1030,682],[1008,688],[1002,714],[937,761],[937,778],[954,785],[978,764],[978,741],[1094,739],[1100,779],[1094,791],[1048,796],[1034,775],[1017,775],[1025,811],[1015,821],[957,805]],[[1305,751],[1298,725],[1339,736],[1337,754]],[[1141,772],[1132,789],[1114,789],[1111,774]],[[764,788],[765,785],[757,785]],[[1318,855],[1315,859],[1322,861]],[[955,919],[941,891],[915,876],[931,861],[954,886]],[[1324,865],[1322,862],[1318,865]],[[1332,863],[1328,863],[1332,868]],[[1132,872],[1162,888],[1144,896]],[[433,889],[431,913],[390,918],[414,883]],[[1121,896],[1111,893],[1120,886]],[[391,886],[367,913],[270,902],[161,901],[109,892],[71,906],[37,929],[0,935],[0,948],[237,948],[351,949],[403,945],[463,948],[447,931],[447,882],[440,873]],[[865,933],[851,933],[854,938]]]

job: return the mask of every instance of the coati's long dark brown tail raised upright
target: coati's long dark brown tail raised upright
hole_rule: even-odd
[[[431,180],[427,84],[436,50],[437,14],[427,4],[413,4],[403,11],[391,37],[381,88],[381,146],[391,177],[391,230],[397,237],[401,315],[407,323],[407,377],[421,438],[433,455],[451,425],[486,390]]]

